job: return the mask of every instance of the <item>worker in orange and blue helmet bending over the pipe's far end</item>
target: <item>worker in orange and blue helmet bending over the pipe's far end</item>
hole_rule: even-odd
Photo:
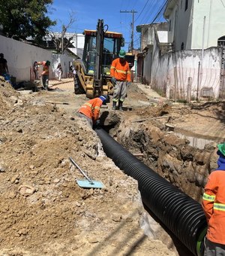
[[[107,96],[100,96],[95,99],[90,99],[84,105],[80,107],[78,110],[78,116],[83,117],[88,120],[90,126],[92,127],[93,124],[99,124],[99,114],[101,105],[106,104]]]

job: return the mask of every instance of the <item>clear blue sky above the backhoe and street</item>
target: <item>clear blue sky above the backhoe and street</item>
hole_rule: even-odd
[[[62,25],[67,26],[71,17],[74,23],[68,32],[72,33],[83,33],[84,29],[96,29],[98,19],[104,20],[104,25],[109,26],[109,31],[123,34],[124,49],[127,50],[131,41],[132,19],[134,18],[133,47],[136,49],[140,47],[140,33],[136,32],[136,26],[153,21],[154,23],[165,21],[163,14],[159,14],[165,2],[166,0],[53,0],[47,15],[57,22],[57,25],[50,29],[52,32],[62,32]],[[132,14],[131,11],[136,13]]]

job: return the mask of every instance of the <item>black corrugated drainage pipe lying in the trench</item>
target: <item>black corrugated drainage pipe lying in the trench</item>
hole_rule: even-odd
[[[142,202],[195,255],[202,255],[207,224],[202,206],[130,154],[103,129],[95,130],[116,166],[138,181]]]

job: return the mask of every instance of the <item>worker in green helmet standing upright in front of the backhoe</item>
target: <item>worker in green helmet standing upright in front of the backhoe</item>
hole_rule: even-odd
[[[114,59],[110,68],[110,75],[114,85],[113,92],[113,110],[118,102],[118,109],[122,110],[124,99],[127,95],[127,83],[130,83],[130,67],[125,59],[126,52],[120,50],[119,58]]]

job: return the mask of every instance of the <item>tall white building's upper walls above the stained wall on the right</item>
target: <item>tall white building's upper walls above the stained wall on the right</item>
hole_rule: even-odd
[[[166,8],[169,42],[175,50],[181,50],[182,42],[184,50],[202,49],[202,41],[204,48],[217,47],[217,39],[225,35],[225,0],[188,0],[186,11],[185,2],[172,0]]]

